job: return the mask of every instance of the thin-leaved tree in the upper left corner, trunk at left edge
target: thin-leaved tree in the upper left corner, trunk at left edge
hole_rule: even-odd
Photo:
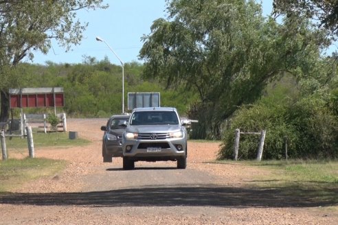
[[[66,51],[78,45],[88,25],[76,19],[78,10],[107,7],[102,0],[0,1],[0,121],[8,119],[8,87],[16,65],[25,57],[32,60],[34,51],[47,54],[52,39]]]

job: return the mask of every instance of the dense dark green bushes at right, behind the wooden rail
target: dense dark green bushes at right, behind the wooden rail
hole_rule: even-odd
[[[287,139],[290,158],[336,158],[338,156],[338,121],[325,102],[308,97],[293,103],[260,104],[243,106],[234,118],[229,130],[223,134],[219,158],[233,158],[234,132],[260,132],[267,130],[262,158],[285,157]],[[256,158],[259,137],[240,136],[238,158]]]

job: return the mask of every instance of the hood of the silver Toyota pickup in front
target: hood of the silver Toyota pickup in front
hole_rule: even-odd
[[[175,132],[182,129],[181,125],[139,125],[139,126],[128,126],[126,132],[132,133],[168,133]]]

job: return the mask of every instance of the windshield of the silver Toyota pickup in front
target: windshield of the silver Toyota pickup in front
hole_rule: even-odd
[[[179,124],[174,111],[144,111],[134,112],[131,125]]]

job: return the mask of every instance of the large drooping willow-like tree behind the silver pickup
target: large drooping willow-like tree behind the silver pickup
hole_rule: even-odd
[[[238,106],[258,99],[284,71],[311,67],[326,43],[306,20],[279,25],[264,18],[254,0],[172,0],[167,9],[168,19],[154,21],[143,37],[139,56],[147,78],[199,93],[190,107],[203,130],[199,138],[219,138]]]

